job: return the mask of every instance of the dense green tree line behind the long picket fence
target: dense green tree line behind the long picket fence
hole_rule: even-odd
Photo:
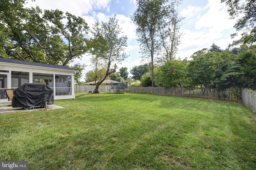
[[[240,48],[222,50],[216,44],[209,49],[195,52],[188,61],[173,59],[161,66],[155,66],[155,86],[206,88],[251,88],[256,89],[256,45],[241,45]],[[141,86],[151,86],[150,70],[143,75],[134,66],[133,78],[141,81]]]

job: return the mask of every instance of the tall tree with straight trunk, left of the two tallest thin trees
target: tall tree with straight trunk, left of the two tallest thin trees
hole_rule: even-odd
[[[137,0],[137,9],[132,20],[136,29],[141,53],[151,58],[152,86],[154,86],[154,54],[159,53],[170,35],[172,12],[175,10],[170,0]],[[165,45],[165,47],[167,47]]]

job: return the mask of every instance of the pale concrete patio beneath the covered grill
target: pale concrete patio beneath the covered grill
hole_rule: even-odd
[[[14,112],[21,112],[21,111],[35,111],[35,110],[46,110],[46,108],[35,108],[35,109],[24,109],[22,107],[12,107],[11,102],[5,102],[5,103],[0,103],[0,115],[6,114],[6,113],[14,113]],[[63,107],[61,106],[56,106],[54,104],[47,106],[47,110],[51,109],[62,109]]]

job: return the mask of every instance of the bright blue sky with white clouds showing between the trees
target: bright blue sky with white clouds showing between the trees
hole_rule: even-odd
[[[118,67],[128,67],[129,72],[132,66],[147,62],[140,58],[136,26],[130,20],[136,10],[135,2],[136,0],[36,0],[26,6],[38,5],[41,9],[68,11],[84,18],[91,28],[96,21],[107,22],[109,17],[116,14],[122,31],[128,37],[126,53],[129,55]],[[176,58],[189,59],[194,52],[209,48],[213,42],[222,49],[226,49],[232,42],[230,34],[235,31],[235,21],[229,20],[227,8],[220,0],[183,0],[180,14],[185,19],[180,29],[183,35]],[[88,55],[84,55],[82,60],[74,61],[78,62],[88,65],[84,72],[92,70]]]

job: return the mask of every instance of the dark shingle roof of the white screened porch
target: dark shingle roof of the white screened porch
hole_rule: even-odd
[[[21,61],[21,60],[13,60],[13,59],[0,58],[0,62],[76,71],[75,69],[69,68],[67,66],[60,66],[60,65],[53,65],[53,64],[44,64],[44,63],[34,63],[34,62],[29,62],[29,61]]]

